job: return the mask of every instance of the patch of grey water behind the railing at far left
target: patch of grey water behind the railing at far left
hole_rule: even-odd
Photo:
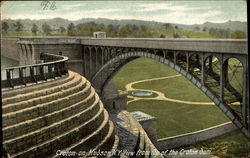
[[[13,66],[19,66],[19,61],[16,61],[16,60],[13,60],[13,59],[10,59],[10,58],[7,58],[7,57],[4,57],[4,56],[1,56],[1,69],[2,68],[6,68],[6,67],[13,67]],[[17,77],[18,75],[18,70],[15,70],[13,73],[14,75],[14,78]],[[1,78],[2,80],[5,80],[6,79],[6,71],[4,70],[1,70]]]

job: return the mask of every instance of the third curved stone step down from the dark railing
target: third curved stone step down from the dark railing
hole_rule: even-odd
[[[74,78],[72,81],[65,83],[63,86],[61,86],[62,89],[60,88],[60,90],[55,91],[54,93],[53,93],[54,90],[52,89],[45,89],[43,96],[31,95],[33,96],[33,98],[27,98],[27,100],[17,101],[15,103],[3,106],[2,107],[3,114],[5,115],[11,112],[16,112],[25,108],[35,106],[37,104],[50,102],[55,98],[65,97],[70,93],[80,91],[83,88],[82,84],[85,86],[86,80],[83,80],[81,76],[77,75],[77,77]],[[50,94],[46,94],[46,92],[49,92]]]

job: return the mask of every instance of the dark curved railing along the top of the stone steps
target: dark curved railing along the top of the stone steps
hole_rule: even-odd
[[[68,57],[42,53],[42,63],[8,67],[1,70],[2,88],[37,83],[38,81],[60,77],[68,73]],[[4,76],[3,74],[6,74]]]

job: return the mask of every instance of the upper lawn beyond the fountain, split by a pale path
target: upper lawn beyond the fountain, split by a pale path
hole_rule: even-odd
[[[114,81],[118,89],[125,90],[125,85],[133,81],[172,75],[178,75],[178,73],[157,61],[140,58],[118,72]],[[166,97],[173,99],[210,102],[209,98],[182,76],[137,83],[133,88],[160,91],[164,93]]]

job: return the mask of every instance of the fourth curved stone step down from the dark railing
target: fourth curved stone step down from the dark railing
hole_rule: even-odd
[[[48,113],[52,113],[56,110],[62,109],[66,106],[69,106],[71,104],[74,104],[82,99],[85,99],[91,90],[91,85],[89,82],[87,82],[87,86],[85,86],[85,90],[82,91],[83,83],[81,85],[78,85],[78,92],[75,92],[73,90],[73,94],[70,94],[68,92],[60,92],[65,93],[67,96],[63,98],[56,98],[55,100],[44,103],[44,104],[38,104],[33,107],[29,107],[23,110],[19,110],[17,112],[12,112],[8,114],[2,115],[3,119],[3,127],[17,124],[20,122],[23,122],[25,120],[29,120],[35,117],[39,117],[41,115],[46,115]],[[82,93],[85,93],[84,95]],[[58,94],[58,96],[61,96]]]

